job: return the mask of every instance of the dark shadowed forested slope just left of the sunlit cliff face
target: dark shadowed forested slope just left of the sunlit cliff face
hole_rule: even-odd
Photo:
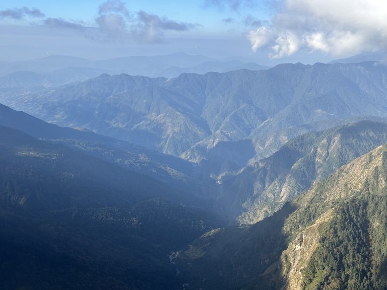
[[[260,223],[209,232],[193,242],[176,259],[187,289],[277,288],[278,258],[287,247],[282,227],[294,210],[287,203]]]

